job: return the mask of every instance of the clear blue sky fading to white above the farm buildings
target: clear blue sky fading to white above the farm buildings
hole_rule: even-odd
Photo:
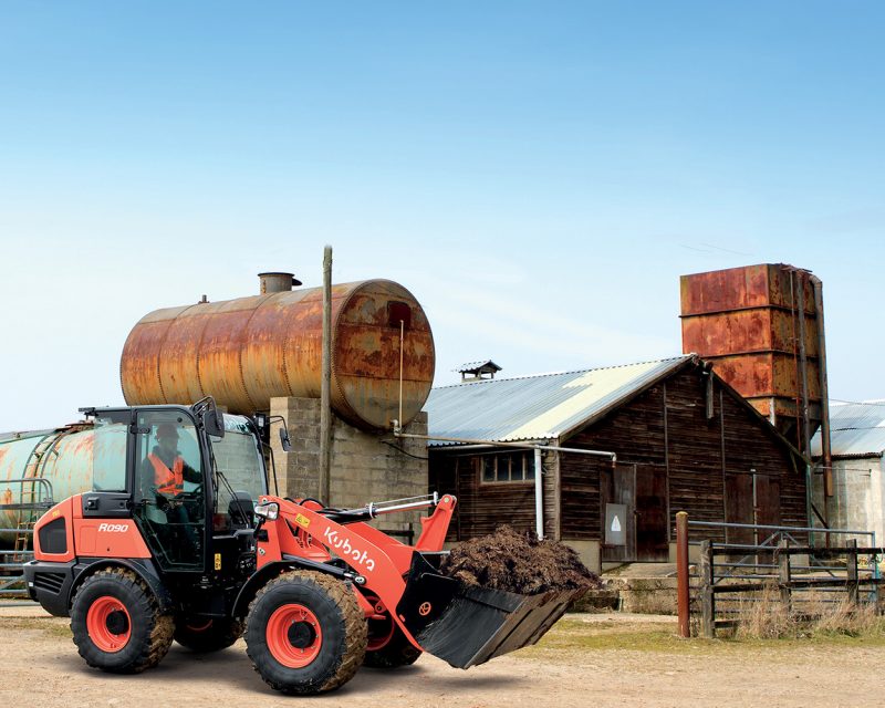
[[[319,6],[320,3],[316,3]],[[437,382],[678,354],[680,274],[824,282],[885,397],[874,2],[0,3],[0,430],[122,402],[159,306],[389,278]]]

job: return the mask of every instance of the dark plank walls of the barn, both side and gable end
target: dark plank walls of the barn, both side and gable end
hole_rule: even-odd
[[[666,476],[671,539],[678,511],[687,511],[694,520],[725,520],[727,473],[754,473],[774,480],[780,487],[780,522],[805,525],[801,465],[791,460],[792,454],[771,435],[767,424],[718,382],[712,387],[712,416],[708,417],[706,377],[699,367],[687,367],[560,444],[612,450],[620,466],[659,469]],[[544,471],[545,533],[601,541],[612,464],[585,455],[548,452]],[[458,497],[450,541],[490,533],[500,523],[534,528],[534,485],[481,483],[477,454],[431,449],[430,490]],[[752,499],[729,503],[746,506],[748,501],[752,507]],[[723,539],[711,530],[695,530],[693,535]]]

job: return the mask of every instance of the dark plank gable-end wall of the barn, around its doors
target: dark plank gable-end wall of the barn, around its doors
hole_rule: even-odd
[[[711,413],[708,417],[706,376],[697,367],[687,367],[563,445],[613,450],[618,465],[662,467],[667,477],[670,539],[675,539],[678,511],[687,511],[697,521],[725,520],[727,472],[775,479],[780,523],[805,525],[804,471],[791,459],[793,454],[719,382],[712,387]],[[563,455],[561,465],[563,538],[602,540],[605,488],[600,479],[611,466],[576,455]],[[751,498],[729,499],[729,504],[746,501],[752,506]],[[587,525],[586,513],[598,521]],[[711,529],[693,530],[693,537],[725,540],[721,531]]]

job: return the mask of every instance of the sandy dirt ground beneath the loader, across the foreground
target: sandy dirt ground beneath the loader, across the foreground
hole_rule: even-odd
[[[471,668],[423,656],[414,666],[363,668],[344,688],[310,699],[274,694],[242,642],[197,656],[177,644],[155,669],[112,676],[90,669],[67,621],[0,606],[0,707],[878,705],[885,641],[739,643],[680,641],[673,617],[568,615],[535,647]]]

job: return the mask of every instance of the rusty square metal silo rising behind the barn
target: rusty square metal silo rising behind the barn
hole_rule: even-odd
[[[821,281],[764,263],[683,275],[683,351],[717,374],[808,452],[826,416]]]

